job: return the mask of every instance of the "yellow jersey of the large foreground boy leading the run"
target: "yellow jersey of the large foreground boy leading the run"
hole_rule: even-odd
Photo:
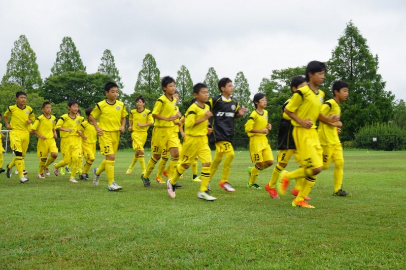
[[[319,118],[320,107],[324,102],[324,92],[318,89],[316,94],[309,85],[303,86],[295,93],[291,98],[291,101],[286,105],[288,111],[294,112],[301,120],[312,119],[312,129],[317,128],[316,121]],[[301,127],[299,123],[291,120],[291,123],[295,127]]]

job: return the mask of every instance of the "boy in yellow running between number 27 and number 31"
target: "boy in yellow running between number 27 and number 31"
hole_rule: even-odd
[[[145,108],[145,98],[139,96],[136,98],[137,109],[130,111],[128,121],[128,131],[131,132],[132,149],[136,151],[132,163],[127,170],[127,174],[132,172],[137,161],[140,161],[141,171],[145,173],[144,144],[147,141],[147,131],[154,124],[151,111]]]

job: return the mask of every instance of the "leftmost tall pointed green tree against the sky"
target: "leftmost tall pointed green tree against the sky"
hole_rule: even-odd
[[[31,49],[25,35],[20,35],[11,49],[11,58],[7,62],[6,74],[2,84],[18,84],[25,91],[33,91],[42,86],[40,71],[38,70],[37,56]]]

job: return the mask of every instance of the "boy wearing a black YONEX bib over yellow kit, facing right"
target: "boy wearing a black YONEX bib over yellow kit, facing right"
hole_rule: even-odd
[[[210,179],[216,173],[223,156],[225,156],[221,171],[220,187],[227,192],[233,192],[235,189],[228,182],[231,163],[234,159],[234,148],[232,147],[232,137],[234,136],[234,118],[240,118],[244,115],[246,108],[240,108],[238,102],[231,98],[234,91],[232,81],[228,78],[222,78],[218,82],[221,95],[215,96],[209,100],[210,110],[213,112],[213,133],[211,142],[216,145],[216,153],[210,167]]]

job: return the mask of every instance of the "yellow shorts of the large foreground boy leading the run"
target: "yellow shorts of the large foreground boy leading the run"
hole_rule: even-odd
[[[299,153],[300,166],[311,169],[323,167],[323,148],[317,129],[294,127],[293,139]]]

